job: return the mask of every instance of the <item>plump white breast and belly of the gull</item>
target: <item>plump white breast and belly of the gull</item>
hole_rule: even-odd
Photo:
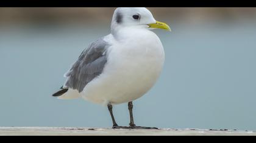
[[[149,30],[124,32],[122,39],[105,38],[112,46],[102,74],[93,79],[81,96],[97,104],[121,104],[143,96],[157,81],[165,53],[162,43]]]

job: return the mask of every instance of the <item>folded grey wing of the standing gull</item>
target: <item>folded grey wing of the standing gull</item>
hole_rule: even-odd
[[[108,43],[102,38],[92,42],[66,73],[67,81],[64,87],[76,89],[80,93],[90,81],[101,75],[107,63],[108,47]]]

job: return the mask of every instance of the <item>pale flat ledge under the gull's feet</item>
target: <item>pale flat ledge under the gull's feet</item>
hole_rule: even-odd
[[[124,130],[110,128],[71,127],[0,127],[0,136],[256,136],[255,131],[202,130],[202,129],[161,129]]]

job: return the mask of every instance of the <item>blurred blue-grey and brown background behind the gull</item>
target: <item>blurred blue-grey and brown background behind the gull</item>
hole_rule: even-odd
[[[256,8],[154,8],[162,75],[133,104],[135,123],[256,130]],[[51,95],[115,8],[0,8],[0,126],[112,127],[106,107]],[[114,108],[129,124],[127,105]]]

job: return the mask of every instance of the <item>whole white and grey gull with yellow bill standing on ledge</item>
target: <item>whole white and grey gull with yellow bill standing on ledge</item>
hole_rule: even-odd
[[[141,98],[157,81],[165,52],[152,29],[171,31],[156,21],[144,7],[116,8],[111,33],[93,41],[64,75],[65,84],[52,96],[59,99],[83,98],[108,107],[112,128],[146,128],[133,121],[133,101]],[[129,127],[119,126],[113,105],[128,103]]]

